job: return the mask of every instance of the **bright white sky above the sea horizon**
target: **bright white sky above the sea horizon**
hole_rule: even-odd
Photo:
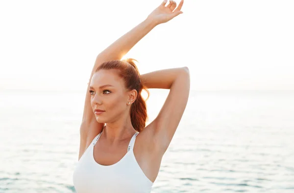
[[[179,0],[175,0],[179,3]],[[96,56],[162,0],[0,1],[0,90],[85,90]],[[192,90],[294,90],[293,0],[185,0],[124,57]]]

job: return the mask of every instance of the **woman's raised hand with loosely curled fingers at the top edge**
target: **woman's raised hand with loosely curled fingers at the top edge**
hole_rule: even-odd
[[[167,21],[172,20],[172,18],[182,14],[181,8],[183,6],[184,0],[181,0],[178,7],[176,7],[176,2],[174,0],[170,0],[169,4],[167,4],[167,0],[164,0],[156,9],[154,9],[147,17],[147,19],[155,22],[157,25],[160,23],[165,23]]]

